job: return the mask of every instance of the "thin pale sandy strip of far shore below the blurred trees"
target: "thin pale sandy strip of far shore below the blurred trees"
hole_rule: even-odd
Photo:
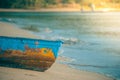
[[[41,8],[41,9],[3,9],[0,8],[0,12],[120,12],[120,9],[115,8],[98,8],[94,11],[90,9],[84,9],[81,11],[80,8]]]

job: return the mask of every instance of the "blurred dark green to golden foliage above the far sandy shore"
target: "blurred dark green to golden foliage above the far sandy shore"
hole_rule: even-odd
[[[41,9],[78,8],[81,10],[119,9],[120,0],[1,0],[0,8]]]

